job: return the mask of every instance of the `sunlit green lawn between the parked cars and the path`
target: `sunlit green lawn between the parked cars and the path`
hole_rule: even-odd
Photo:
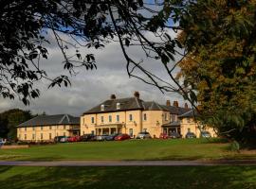
[[[228,143],[206,139],[89,142],[0,149],[0,160],[218,160],[256,157],[256,153],[231,152],[228,148]]]

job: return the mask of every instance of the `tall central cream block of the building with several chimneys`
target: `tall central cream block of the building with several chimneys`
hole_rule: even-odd
[[[138,132],[148,131],[155,137],[159,137],[163,132],[180,133],[178,115],[190,111],[187,104],[181,108],[177,101],[174,101],[173,106],[170,100],[167,100],[166,105],[144,101],[138,92],[128,98],[116,98],[116,95],[112,94],[110,99],[83,112],[81,133],[127,133],[135,136]]]

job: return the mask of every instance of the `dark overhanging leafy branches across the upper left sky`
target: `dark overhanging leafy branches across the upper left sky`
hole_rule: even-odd
[[[19,96],[25,104],[29,98],[39,96],[33,84],[42,78],[49,79],[50,87],[70,84],[67,76],[47,77],[42,59],[47,59],[47,47],[57,43],[64,56],[64,69],[76,74],[77,67],[96,68],[94,55],[80,52],[79,47],[102,48],[105,43],[118,41],[127,60],[130,77],[138,77],[157,86],[161,91],[178,91],[170,82],[163,81],[141,66],[127,52],[130,46],[140,46],[149,59],[161,59],[174,79],[167,63],[179,53],[179,43],[169,35],[173,26],[170,16],[173,1],[142,0],[1,0],[0,9],[0,94],[3,97]],[[149,3],[154,2],[154,3]],[[175,18],[174,18],[175,19]],[[168,29],[167,29],[168,28]],[[155,35],[149,40],[147,32]],[[47,34],[55,42],[47,41]],[[64,35],[69,37],[66,40]],[[71,42],[71,41],[72,42]],[[48,44],[51,43],[51,44]],[[180,54],[180,53],[179,53]],[[149,80],[137,76],[142,71]],[[157,81],[156,81],[157,80]],[[165,86],[160,86],[158,83]],[[175,83],[177,84],[177,83]]]

